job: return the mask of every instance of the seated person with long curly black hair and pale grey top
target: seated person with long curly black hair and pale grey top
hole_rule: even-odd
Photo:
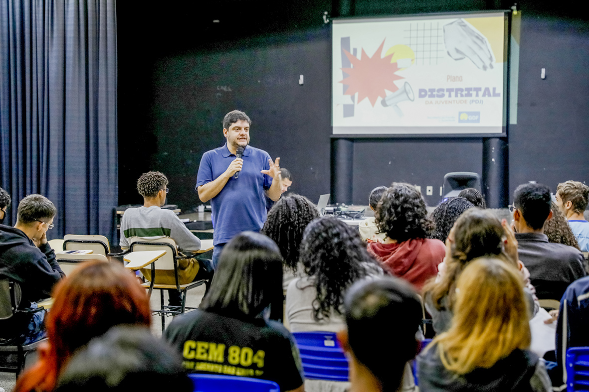
[[[346,289],[366,276],[382,275],[358,232],[336,218],[319,218],[307,226],[300,261],[306,275],[286,290],[291,332],[342,330]]]

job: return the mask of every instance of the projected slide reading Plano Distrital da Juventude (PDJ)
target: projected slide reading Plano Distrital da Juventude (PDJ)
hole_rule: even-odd
[[[504,132],[506,18],[335,19],[333,134]]]

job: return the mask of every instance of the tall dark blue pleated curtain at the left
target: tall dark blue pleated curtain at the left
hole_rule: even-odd
[[[0,175],[12,206],[45,195],[49,238],[113,238],[118,204],[115,0],[0,2]]]

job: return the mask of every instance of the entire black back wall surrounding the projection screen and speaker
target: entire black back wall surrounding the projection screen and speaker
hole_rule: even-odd
[[[358,0],[273,2],[266,9],[264,2],[234,0],[215,5],[233,7],[231,15],[203,16],[171,6],[137,11],[122,3],[117,5],[120,202],[140,202],[134,190],[138,175],[160,170],[170,178],[168,202],[183,210],[200,203],[194,191],[200,158],[223,144],[221,120],[234,108],[253,120],[252,145],[280,157],[293,172],[293,192],[312,200],[329,192],[331,44],[323,10],[391,15],[511,6]],[[421,9],[425,3],[427,10]],[[572,19],[573,11],[555,19],[548,2],[521,6],[518,124],[508,131],[510,193],[530,180],[552,188],[571,178],[587,180],[589,163],[587,22]],[[213,14],[221,15],[220,23],[212,22],[218,17]],[[545,80],[541,68],[547,68]],[[432,185],[434,195],[426,201],[435,205],[446,172],[481,173],[482,141],[360,140],[350,159],[355,204],[366,204],[377,185],[406,181],[421,185],[423,194]]]

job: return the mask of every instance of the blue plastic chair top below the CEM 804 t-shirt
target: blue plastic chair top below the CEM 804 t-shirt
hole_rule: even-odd
[[[280,392],[274,381],[259,378],[191,373],[194,392]]]

